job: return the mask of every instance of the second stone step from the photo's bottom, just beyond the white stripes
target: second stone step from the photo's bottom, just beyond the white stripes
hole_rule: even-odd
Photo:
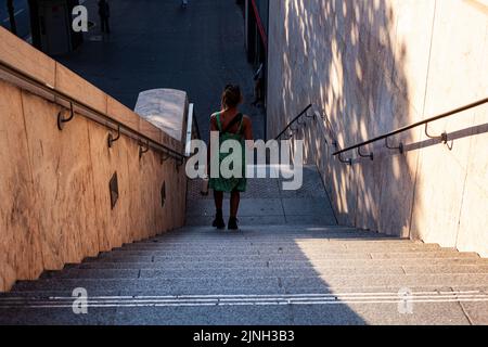
[[[341,287],[487,286],[487,274],[363,274],[286,278],[174,278],[174,279],[56,279],[18,282],[13,292],[62,291],[84,287],[88,291],[158,290],[168,295],[311,293]]]

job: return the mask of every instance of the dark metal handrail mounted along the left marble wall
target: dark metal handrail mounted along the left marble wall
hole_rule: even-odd
[[[117,131],[118,134],[124,133],[127,137],[131,138],[132,140],[137,141],[138,144],[143,143],[147,149],[152,149],[157,153],[167,155],[179,162],[183,162],[187,158],[184,154],[178,153],[177,151],[168,147],[167,145],[154,141],[150,137],[143,134],[142,132],[136,129],[132,129],[131,127],[111,117],[110,115],[101,113],[100,111],[84,103],[82,101],[76,100],[75,98],[55,89],[54,87],[41,81],[40,79],[37,79],[33,76],[25,74],[24,72],[5,62],[0,62],[0,69],[9,73],[10,75],[13,75],[14,77],[21,79],[24,82],[31,85],[35,88],[41,89],[48,92],[49,94],[52,94],[54,99],[57,98],[60,100],[64,100],[65,102],[67,102],[69,104],[72,117],[69,117],[68,119],[63,119],[60,113],[57,117],[57,124],[60,129],[62,129],[62,125],[64,123],[67,123],[73,118],[74,115],[73,107],[76,106],[78,110],[85,110],[87,112],[87,113],[79,113],[79,115],[81,115],[82,117],[91,119],[110,130]],[[22,86],[20,86],[20,88],[25,89]]]

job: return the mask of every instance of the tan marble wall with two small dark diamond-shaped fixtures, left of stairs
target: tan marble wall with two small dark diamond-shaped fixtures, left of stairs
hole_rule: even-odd
[[[0,61],[182,152],[181,141],[3,28],[0,42]],[[138,142],[124,134],[108,149],[108,129],[80,110],[60,131],[57,113],[67,110],[26,89],[0,78],[0,292],[16,280],[35,280],[44,270],[183,226],[184,168],[174,160],[162,165],[153,151],[140,158]],[[114,172],[119,197],[112,209]]]

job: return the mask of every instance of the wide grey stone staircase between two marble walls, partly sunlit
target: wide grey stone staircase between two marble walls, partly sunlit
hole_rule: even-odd
[[[192,183],[201,226],[20,282],[0,296],[0,324],[488,323],[487,259],[334,226],[313,168],[307,177],[291,195],[252,182],[240,232],[204,226],[211,202]],[[80,287],[88,314],[73,312]]]

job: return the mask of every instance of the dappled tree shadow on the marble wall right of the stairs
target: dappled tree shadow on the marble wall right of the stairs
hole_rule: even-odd
[[[286,119],[279,127],[303,105],[320,105],[335,139],[324,141],[322,126],[305,127],[297,139],[306,140],[307,160],[319,166],[335,197],[339,222],[408,236],[418,153],[401,155],[381,142],[361,149],[374,153],[374,162],[349,153],[355,159],[347,166],[332,157],[333,140],[339,147],[362,142],[409,125],[412,113],[423,112],[410,102],[407,49],[395,38],[393,10],[386,1],[286,1],[278,7],[286,33],[278,87],[282,110],[277,111]],[[416,132],[406,132],[389,139],[389,145],[418,140]]]

